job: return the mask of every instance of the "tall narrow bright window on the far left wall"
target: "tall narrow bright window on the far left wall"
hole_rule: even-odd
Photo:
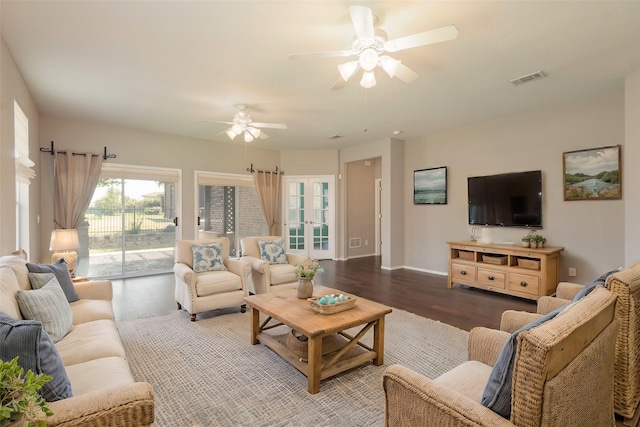
[[[16,247],[29,251],[29,184],[35,177],[29,159],[29,119],[13,101],[13,129],[16,158]]]

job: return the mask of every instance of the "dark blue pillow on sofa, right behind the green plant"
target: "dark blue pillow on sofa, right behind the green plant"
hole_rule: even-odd
[[[53,379],[40,389],[47,402],[72,397],[71,383],[62,359],[42,324],[35,320],[20,320],[0,312],[0,359],[18,356],[18,365],[25,372],[47,374]]]

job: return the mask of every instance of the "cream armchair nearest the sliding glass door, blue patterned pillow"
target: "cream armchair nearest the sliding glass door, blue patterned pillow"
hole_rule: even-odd
[[[229,259],[229,239],[179,240],[176,245],[175,296],[178,310],[196,313],[240,306],[246,311],[248,264]]]

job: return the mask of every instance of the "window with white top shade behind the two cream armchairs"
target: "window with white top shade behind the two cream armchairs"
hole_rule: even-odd
[[[269,228],[260,208],[253,178],[196,172],[198,183],[198,233],[228,237],[230,256],[240,256],[240,239],[266,236]]]

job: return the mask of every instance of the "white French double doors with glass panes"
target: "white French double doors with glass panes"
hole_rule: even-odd
[[[284,177],[287,251],[315,259],[335,255],[335,191],[332,175]]]

